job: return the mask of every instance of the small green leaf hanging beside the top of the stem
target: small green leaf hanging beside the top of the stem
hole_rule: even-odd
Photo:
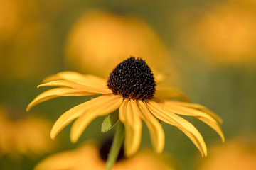
[[[109,131],[111,128],[114,127],[115,124],[117,124],[118,120],[119,120],[118,111],[114,111],[113,113],[106,115],[102,123],[101,132]]]

